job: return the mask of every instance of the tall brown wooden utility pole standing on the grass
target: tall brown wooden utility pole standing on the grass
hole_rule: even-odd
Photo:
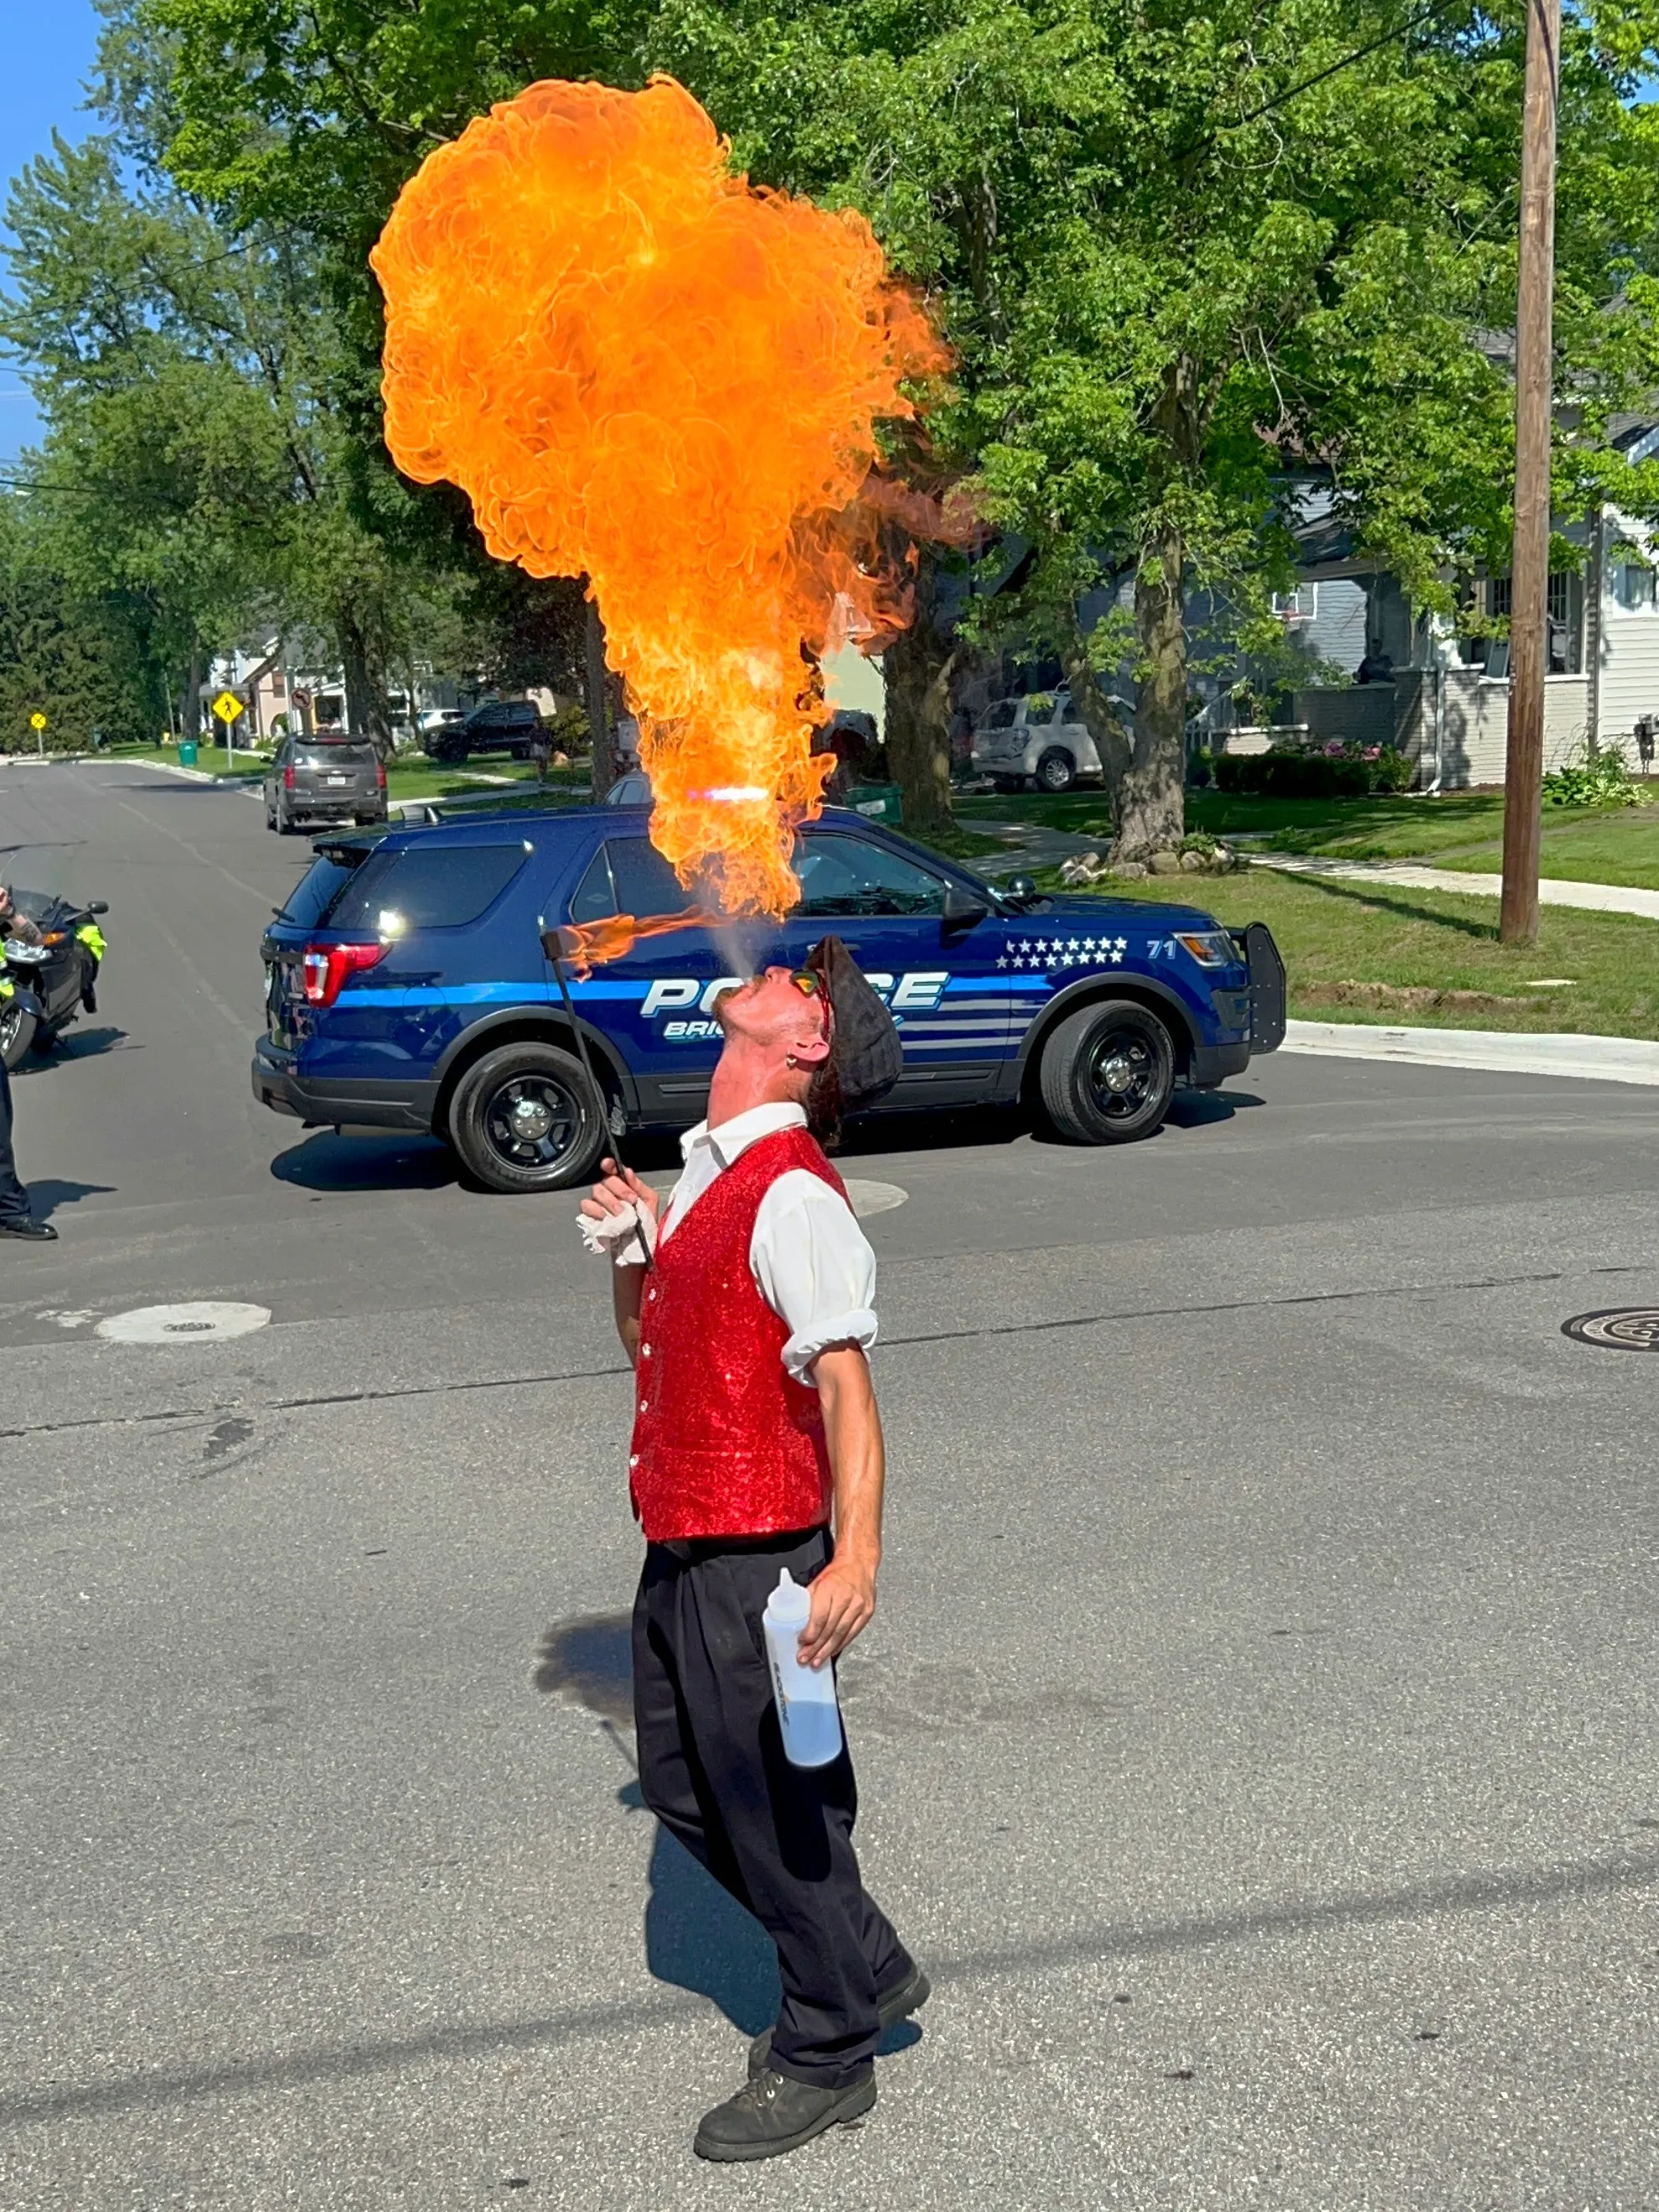
[[[1555,91],[1562,0],[1526,4],[1520,290],[1515,301],[1515,557],[1509,591],[1509,752],[1504,761],[1504,945],[1537,938],[1544,781],[1544,675],[1551,571],[1551,347],[1555,292]]]

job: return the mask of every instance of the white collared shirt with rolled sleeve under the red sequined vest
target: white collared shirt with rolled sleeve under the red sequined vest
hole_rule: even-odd
[[[719,1128],[699,1121],[679,1139],[686,1157],[657,1228],[675,1234],[697,1199],[761,1137],[805,1128],[799,1106],[750,1106]],[[750,1237],[750,1274],[790,1340],[783,1365],[812,1383],[812,1363],[827,1345],[876,1343],[876,1254],[852,1206],[812,1168],[790,1168],[768,1186]]]

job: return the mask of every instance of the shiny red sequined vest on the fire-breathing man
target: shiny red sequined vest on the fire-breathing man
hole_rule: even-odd
[[[639,1305],[628,1491],[648,1544],[830,1520],[818,1394],[783,1367],[787,1323],[750,1274],[754,1217],[790,1168],[845,1186],[803,1128],[761,1137],[657,1243]]]

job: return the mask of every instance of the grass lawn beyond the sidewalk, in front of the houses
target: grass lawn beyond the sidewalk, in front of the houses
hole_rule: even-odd
[[[1659,781],[1655,799],[1659,801]],[[1102,792],[1071,792],[1064,799],[960,799],[956,812],[964,827],[1000,818],[1110,836]],[[1223,792],[1188,792],[1186,821],[1188,830],[1332,860],[1425,860],[1482,876],[1502,867],[1502,792],[1447,792],[1442,799],[1234,799]],[[1659,803],[1544,807],[1544,874],[1659,889]]]

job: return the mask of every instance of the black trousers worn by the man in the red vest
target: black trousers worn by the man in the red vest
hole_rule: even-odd
[[[783,1568],[812,1582],[830,1553],[827,1528],[653,1544],[633,1608],[633,1701],[646,1805],[779,1949],[774,2068],[845,2088],[876,2051],[878,1995],[911,1962],[858,1878],[847,1747],[827,1767],[790,1765],[761,1635]]]

